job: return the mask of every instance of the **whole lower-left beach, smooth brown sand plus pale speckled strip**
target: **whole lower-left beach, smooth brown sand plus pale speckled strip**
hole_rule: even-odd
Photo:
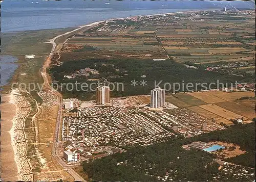
[[[2,94],[1,178],[5,181],[33,180],[24,132],[24,119],[29,112],[30,105],[18,90]]]

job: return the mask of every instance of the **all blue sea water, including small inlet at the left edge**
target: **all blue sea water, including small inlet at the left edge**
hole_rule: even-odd
[[[142,1],[142,0],[4,0],[1,1],[1,34],[5,32],[79,27],[95,21],[138,15],[251,7],[241,1]],[[12,55],[1,55],[1,86],[8,83],[17,65]],[[2,65],[3,63],[3,65]],[[4,70],[8,69],[8,74]]]

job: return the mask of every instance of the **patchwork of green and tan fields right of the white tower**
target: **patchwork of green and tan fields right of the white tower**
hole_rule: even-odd
[[[187,108],[217,123],[231,125],[230,119],[244,118],[245,123],[255,117],[254,92],[205,91],[166,95],[165,101],[179,108]],[[241,97],[252,97],[239,100]]]

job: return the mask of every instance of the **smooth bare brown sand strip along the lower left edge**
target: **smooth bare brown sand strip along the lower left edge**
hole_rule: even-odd
[[[16,114],[11,94],[1,94],[1,178],[5,181],[17,181],[18,169],[11,145],[11,129]]]

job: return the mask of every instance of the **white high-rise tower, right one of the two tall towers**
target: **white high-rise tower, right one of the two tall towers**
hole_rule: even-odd
[[[151,108],[161,108],[165,102],[165,90],[162,88],[155,88],[151,90]]]

